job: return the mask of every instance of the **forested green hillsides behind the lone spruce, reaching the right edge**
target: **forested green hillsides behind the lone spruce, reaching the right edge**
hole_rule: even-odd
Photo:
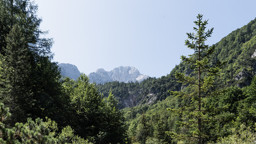
[[[203,97],[201,108],[205,109],[203,114],[206,121],[201,129],[204,132],[204,135],[201,135],[202,144],[252,144],[255,141],[255,40],[256,19],[232,31],[214,45],[208,66],[214,66],[218,62],[224,62],[225,65],[207,92],[211,91],[210,97]],[[170,74],[161,78],[148,78],[141,83],[110,82],[98,85],[98,90],[104,96],[107,96],[107,91],[111,89],[116,99],[119,99],[119,108],[123,108],[131,143],[198,144],[189,140],[188,135],[186,138],[186,134],[189,134],[195,125],[193,121],[187,127],[183,125],[194,116],[186,117],[183,113],[175,114],[168,110],[185,108],[191,102],[190,99],[171,95],[168,91],[191,93],[194,90],[193,87],[188,87],[189,83],[178,83],[176,72],[182,72],[184,76],[192,78],[196,78],[197,74],[191,70],[189,64],[181,62]],[[131,97],[136,106],[124,108],[129,106],[123,102],[127,102]],[[200,135],[197,131],[194,132]],[[185,139],[177,137],[184,135]]]

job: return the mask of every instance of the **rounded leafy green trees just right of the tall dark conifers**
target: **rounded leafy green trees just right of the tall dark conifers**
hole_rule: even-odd
[[[76,82],[66,78],[63,85],[69,96],[66,124],[72,126],[76,134],[93,139],[96,144],[124,143],[124,119],[111,92],[104,99],[85,74]]]

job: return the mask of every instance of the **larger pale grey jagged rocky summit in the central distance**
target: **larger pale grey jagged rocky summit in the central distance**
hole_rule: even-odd
[[[140,74],[133,66],[119,66],[114,68],[114,70],[107,72],[103,68],[97,69],[96,72],[91,72],[89,75],[90,81],[95,82],[96,84],[104,84],[106,82],[140,82],[146,78],[149,78],[147,75]]]

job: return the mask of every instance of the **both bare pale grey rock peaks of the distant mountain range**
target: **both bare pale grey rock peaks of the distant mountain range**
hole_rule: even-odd
[[[76,80],[80,76],[80,72],[75,65],[61,63],[58,66],[61,67],[62,77],[69,77]],[[88,77],[90,82],[96,84],[104,84],[106,82],[140,82],[146,78],[147,75],[140,74],[139,70],[133,66],[119,66],[114,68],[112,71],[107,72],[103,68],[97,69],[96,72],[91,72]]]

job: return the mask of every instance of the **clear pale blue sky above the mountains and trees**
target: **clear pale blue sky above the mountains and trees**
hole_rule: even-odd
[[[41,30],[55,43],[52,61],[89,74],[134,66],[159,78],[178,65],[198,14],[214,27],[212,45],[256,18],[256,0],[35,0]]]

